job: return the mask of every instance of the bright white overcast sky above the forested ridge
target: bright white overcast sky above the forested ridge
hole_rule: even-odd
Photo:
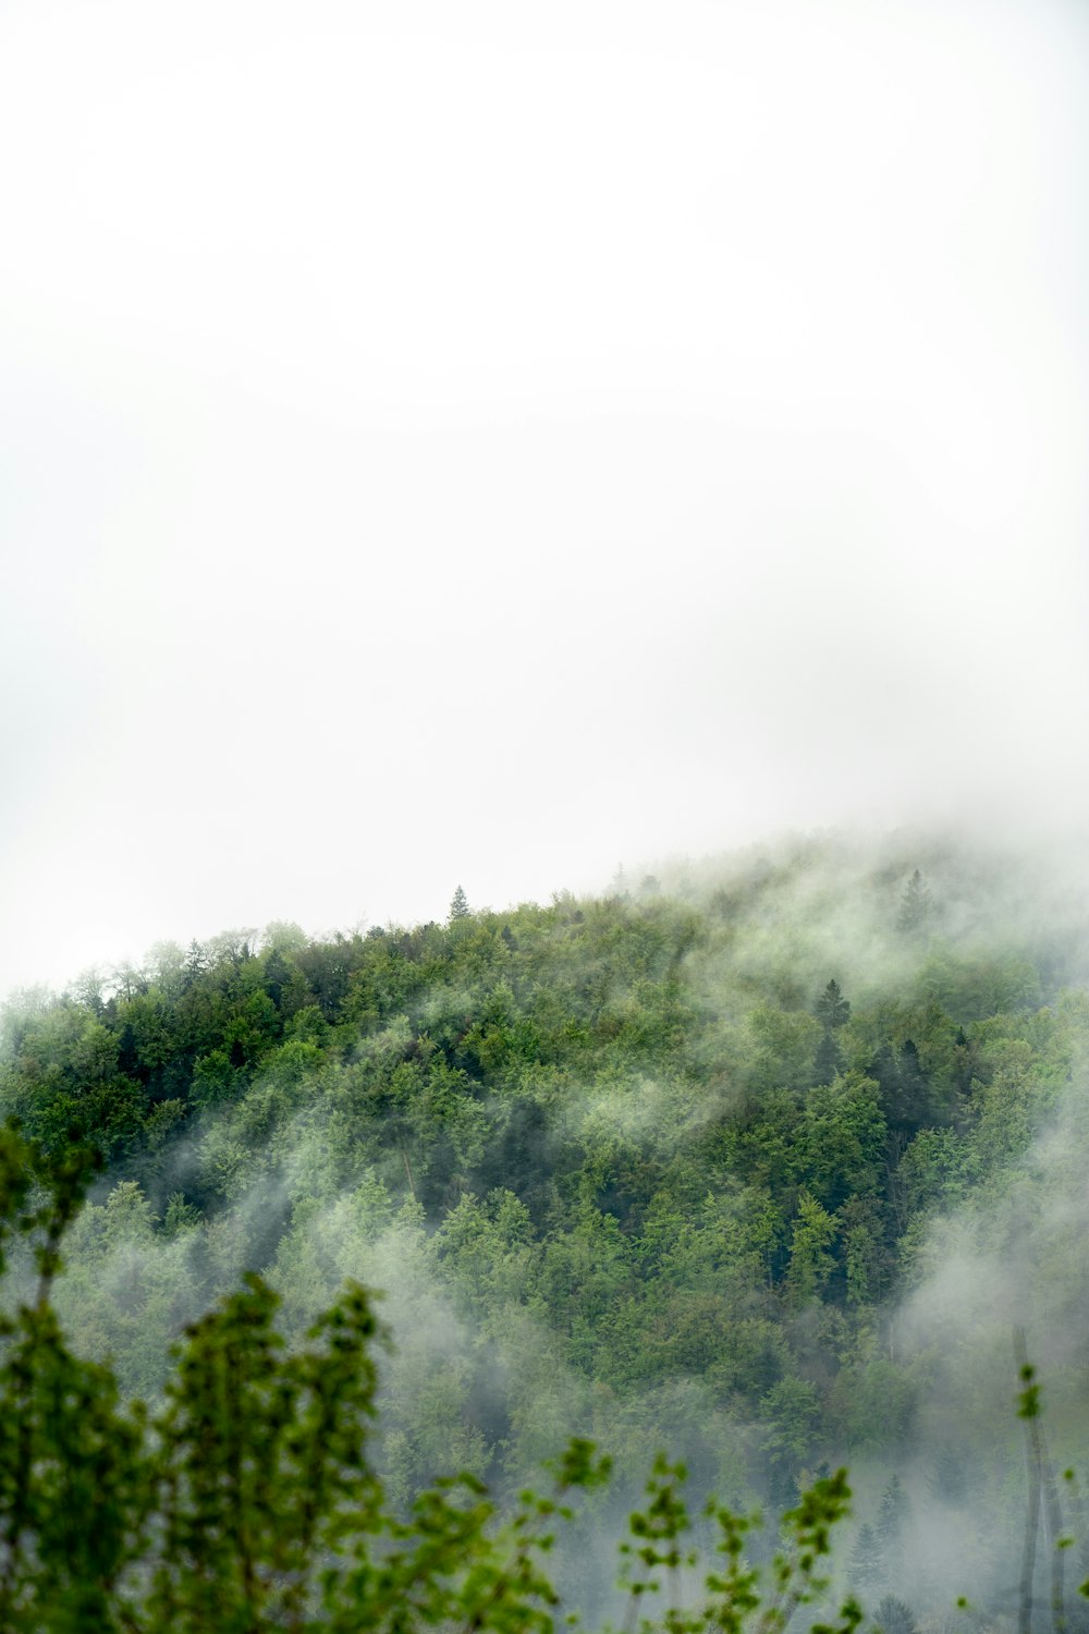
[[[0,992],[1089,814],[1089,13],[0,0]]]

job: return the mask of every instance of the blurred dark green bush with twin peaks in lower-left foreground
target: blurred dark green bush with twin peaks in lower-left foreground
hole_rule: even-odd
[[[302,1627],[315,1560],[380,1529],[371,1302],[348,1288],[291,1356],[276,1306],[247,1278],[189,1327],[168,1381],[152,1461],[160,1627]]]

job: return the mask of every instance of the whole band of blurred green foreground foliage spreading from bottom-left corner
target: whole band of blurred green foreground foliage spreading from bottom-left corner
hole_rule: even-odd
[[[0,1364],[0,1634],[263,1634],[464,1629],[549,1634],[563,1618],[547,1570],[571,1500],[609,1479],[575,1440],[552,1490],[500,1518],[482,1480],[439,1480],[393,1516],[371,1462],[380,1340],[348,1286],[287,1351],[278,1296],[248,1276],[188,1327],[165,1404],[122,1407],[111,1371],[65,1345],[51,1294],[82,1157],[51,1170],[0,1131],[0,1232],[28,1237],[34,1297],[3,1319]],[[627,1627],[780,1634],[826,1585],[820,1564],[851,1497],[841,1471],[782,1520],[766,1578],[748,1564],[753,1518],[707,1505],[699,1570],[684,1469],[660,1461],[622,1546]],[[859,1621],[847,1603],[836,1624]],[[573,1621],[573,1618],[567,1618]]]

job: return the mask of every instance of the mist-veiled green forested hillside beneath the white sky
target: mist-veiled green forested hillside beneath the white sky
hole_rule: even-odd
[[[393,1511],[462,1467],[516,1505],[571,1435],[617,1503],[661,1448],[776,1511],[847,1464],[839,1582],[909,1634],[953,1588],[1014,1609],[1011,1335],[1086,1467],[1087,980],[1069,879],[807,838],[16,995],[0,1116],[42,1160],[96,1154],[54,1302],[124,1397],[165,1400],[171,1345],[243,1271],[299,1356],[358,1279],[392,1333]],[[8,1275],[36,1275],[18,1245]]]

